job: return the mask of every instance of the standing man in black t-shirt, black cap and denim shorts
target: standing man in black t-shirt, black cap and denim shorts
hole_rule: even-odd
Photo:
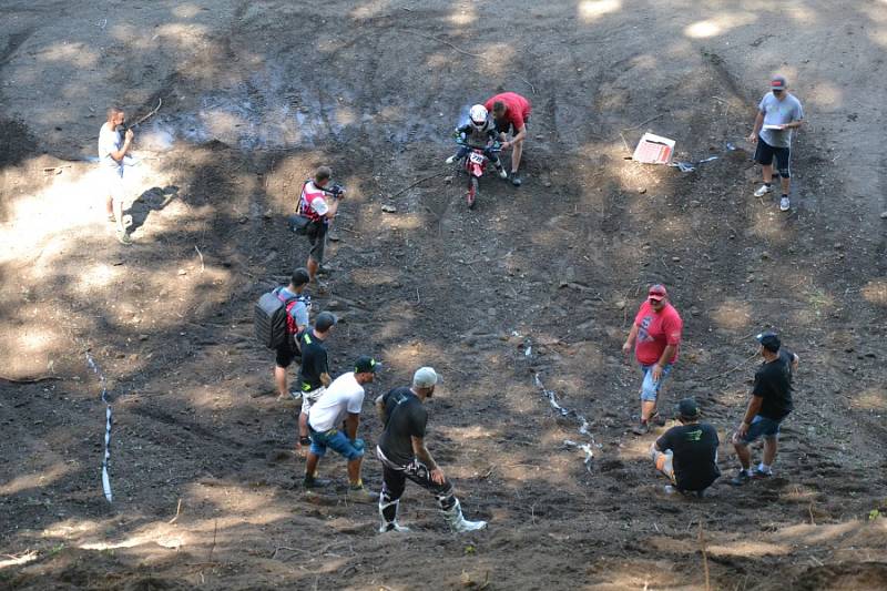
[[[753,476],[773,476],[772,466],[776,459],[779,425],[794,408],[792,378],[797,369],[798,356],[782,347],[775,333],[762,333],[756,338],[761,344],[764,363],[755,373],[752,399],[748,400],[742,424],[733,435],[733,447],[736,448],[741,468],[730,483],[736,487],[746,483]],[[748,445],[761,437],[764,438],[764,460],[752,473],[752,452]]]

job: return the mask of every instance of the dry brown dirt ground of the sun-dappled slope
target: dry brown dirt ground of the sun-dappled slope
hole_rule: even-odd
[[[0,587],[885,587],[885,0],[0,11]],[[774,71],[807,115],[788,215],[752,195],[743,141]],[[524,185],[488,176],[469,212],[449,133],[500,89],[533,103]],[[159,100],[136,130],[125,247],[85,159],[108,104]],[[648,129],[681,160],[625,160]],[[441,371],[430,448],[487,531],[450,534],[414,487],[414,531],[379,536],[375,507],[297,486],[295,409],[272,393],[252,306],[304,262],[284,218],[322,163],[350,190],[315,298],[341,317],[334,369],[381,358],[368,398]],[[666,404],[697,397],[722,441],[752,335],[774,326],[799,354],[772,480],[662,493],[654,435],[628,431],[638,377],[620,354],[653,282],[685,319]],[[86,351],[113,400],[113,503]],[[361,429],[379,434],[369,403]],[[322,471],[344,483],[340,460]],[[375,460],[365,480],[379,487]]]

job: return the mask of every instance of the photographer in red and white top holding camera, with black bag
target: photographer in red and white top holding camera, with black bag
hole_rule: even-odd
[[[345,190],[338,185],[327,188],[332,176],[333,170],[329,166],[317,169],[314,179],[302,185],[302,195],[298,200],[298,214],[312,221],[306,231],[312,248],[305,266],[308,267],[308,275],[313,282],[317,281],[317,272],[324,263],[329,222],[336,217],[339,200],[345,196]]]

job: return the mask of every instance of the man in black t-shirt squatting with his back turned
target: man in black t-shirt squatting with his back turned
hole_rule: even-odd
[[[695,492],[703,496],[706,488],[721,476],[717,469],[717,431],[711,425],[700,422],[700,407],[693,398],[677,404],[677,420],[656,439],[650,448],[650,457],[656,469],[667,476],[672,485],[665,492]]]

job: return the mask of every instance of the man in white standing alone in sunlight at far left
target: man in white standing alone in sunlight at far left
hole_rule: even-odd
[[[101,167],[102,187],[105,193],[105,212],[109,222],[116,222],[116,237],[121,244],[132,244],[123,223],[123,157],[132,146],[135,134],[132,130],[121,133],[120,126],[126,119],[122,109],[112,106],[108,110],[108,120],[99,131],[99,166]]]

